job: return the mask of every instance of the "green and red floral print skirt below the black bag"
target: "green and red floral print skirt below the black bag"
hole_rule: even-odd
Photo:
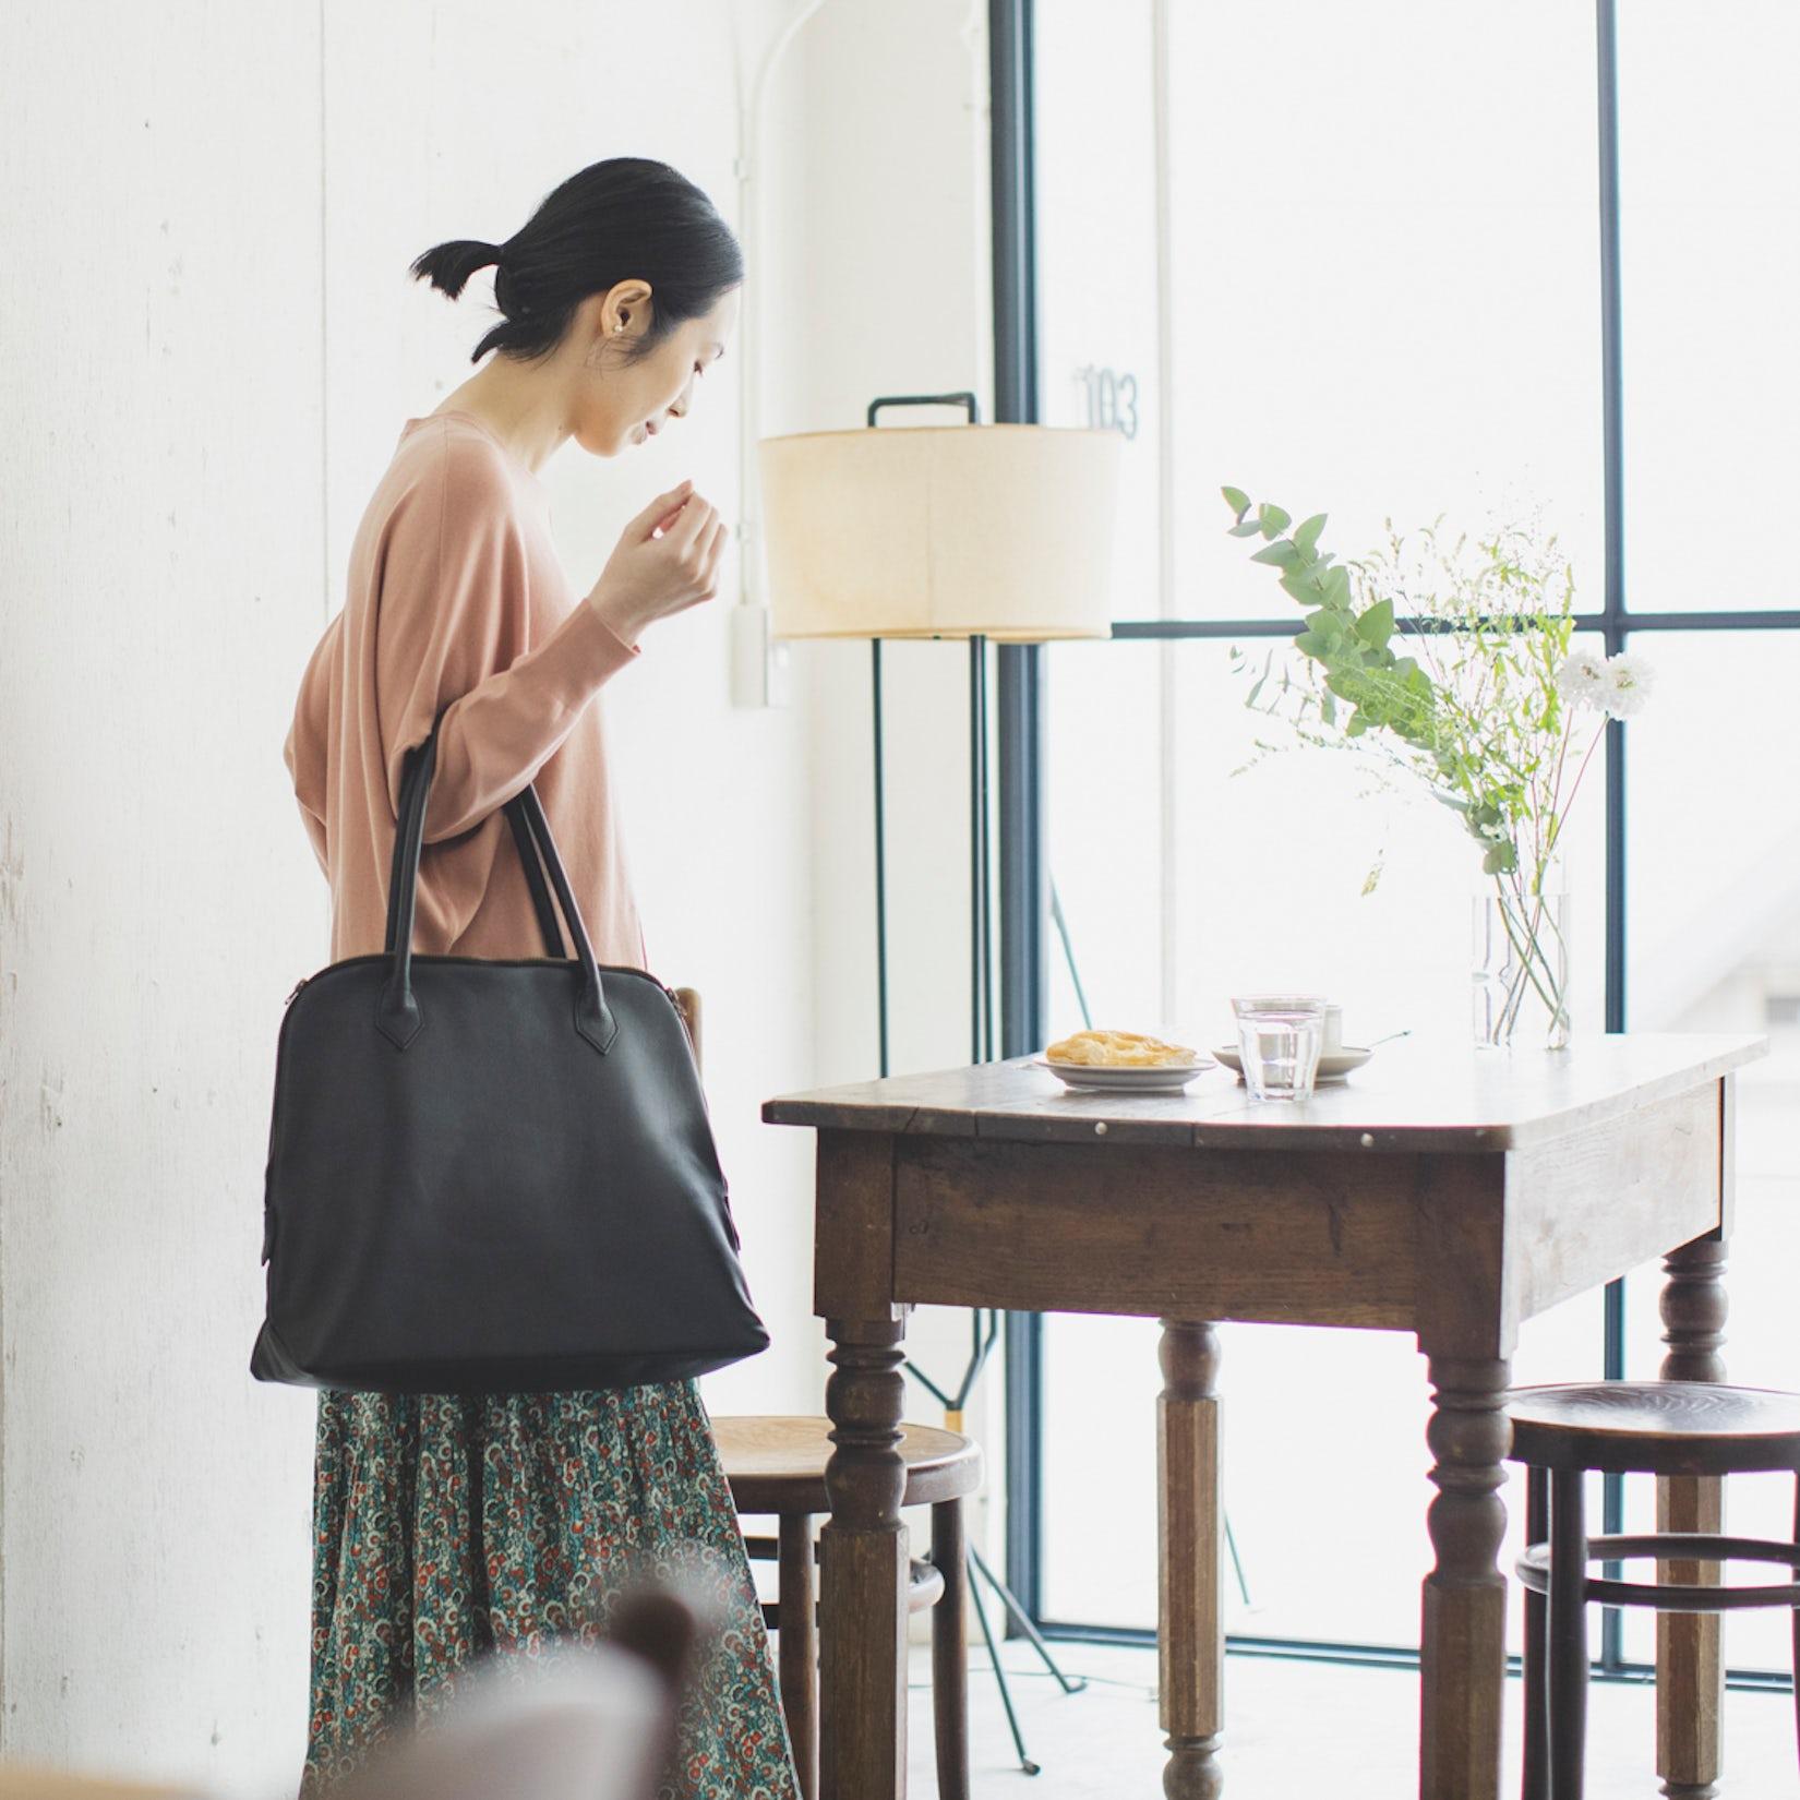
[[[320,1388],[301,1800],[391,1730],[427,1730],[477,1658],[605,1636],[644,1571],[700,1577],[725,1615],[659,1800],[797,1800],[763,1615],[695,1382]]]

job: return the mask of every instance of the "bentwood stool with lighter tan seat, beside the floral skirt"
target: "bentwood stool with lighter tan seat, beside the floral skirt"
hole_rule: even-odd
[[[769,1514],[778,1537],[747,1537],[752,1557],[779,1562],[779,1593],[763,1616],[776,1629],[781,1712],[806,1800],[819,1791],[819,1627],[814,1582],[814,1519],[832,1510],[824,1463],[832,1454],[828,1418],[715,1418],[713,1436],[738,1512]],[[914,1561],[907,1611],[931,1615],[931,1705],[938,1741],[940,1800],[968,1800],[968,1661],[963,1616],[968,1562],[963,1555],[963,1499],[981,1487],[981,1445],[956,1431],[902,1426],[905,1458],[902,1507],[931,1507],[931,1557]]]

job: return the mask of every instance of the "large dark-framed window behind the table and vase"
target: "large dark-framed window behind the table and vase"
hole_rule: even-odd
[[[1800,493],[1800,11],[1739,0],[1717,27],[1611,0],[1120,0],[1098,29],[1037,0],[1037,410],[1129,439],[1114,637],[1040,664],[1039,848],[1067,947],[1048,949],[1046,1024],[1075,1030],[1085,1003],[1210,1046],[1233,988],[1292,981],[1341,997],[1352,1040],[1467,1031],[1474,871],[1442,810],[1368,794],[1328,752],[1255,754],[1235,653],[1291,657],[1296,619],[1226,536],[1219,488],[1328,513],[1346,556],[1386,518],[1541,509],[1591,641],[1658,673],[1577,815],[1577,1030],[1771,1035],[1741,1076],[1726,1357],[1800,1388],[1800,1141],[1780,1125],[1800,1098],[1800,603],[1778,549]],[[1532,1321],[1516,1377],[1652,1375],[1656,1285]],[[1229,1627],[1404,1654],[1429,1566],[1413,1341],[1222,1336]],[[1015,1404],[1037,1406],[1013,1435],[1037,1445],[1012,1476],[1024,1586],[1053,1625],[1154,1629],[1156,1327],[1051,1316],[1015,1350]],[[1609,1496],[1633,1519],[1649,1503]],[[1733,1528],[1787,1528],[1775,1483],[1735,1505]],[[1516,1543],[1517,1523],[1508,1562]],[[1786,1667],[1784,1634],[1733,1618],[1728,1658]],[[1647,1618],[1604,1654],[1647,1656]]]

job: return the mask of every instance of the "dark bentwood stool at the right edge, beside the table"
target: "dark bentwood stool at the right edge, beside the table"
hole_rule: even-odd
[[[1800,1395],[1706,1381],[1609,1381],[1593,1386],[1516,1388],[1512,1460],[1526,1467],[1525,1537],[1525,1800],[1580,1800],[1588,1733],[1588,1602],[1661,1613],[1800,1609]],[[1705,1532],[1589,1537],[1582,1478],[1607,1474],[1726,1476],[1791,1469],[1795,1541]],[[1715,1582],[1598,1580],[1597,1561],[1654,1557],[1683,1564],[1741,1559],[1775,1562],[1789,1579],[1766,1588]],[[1800,1676],[1800,1611],[1795,1611]],[[1796,1681],[1800,1688],[1800,1681]],[[1800,1692],[1796,1692],[1800,1708]],[[1800,1712],[1796,1712],[1800,1728]]]

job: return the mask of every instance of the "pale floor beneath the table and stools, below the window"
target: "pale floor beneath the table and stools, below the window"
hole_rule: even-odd
[[[970,1661],[976,1800],[1159,1800],[1163,1748],[1156,1724],[1156,1656],[1148,1651],[1057,1645],[1089,1687],[1062,1694],[1031,1649],[1003,1651],[1017,1670],[1013,1697],[1026,1748],[1042,1766],[1026,1777],[1013,1757],[985,1654]],[[1519,1683],[1507,1683],[1507,1775],[1519,1791]],[[1418,1687],[1411,1674],[1233,1656],[1226,1665],[1228,1800],[1408,1800],[1417,1793]],[[1589,1696],[1586,1800],[1647,1800],[1654,1775],[1654,1696],[1647,1687],[1595,1683]],[[913,1651],[911,1778],[936,1793],[929,1651]],[[1721,1800],[1800,1795],[1793,1708],[1786,1696],[1726,1694]]]

